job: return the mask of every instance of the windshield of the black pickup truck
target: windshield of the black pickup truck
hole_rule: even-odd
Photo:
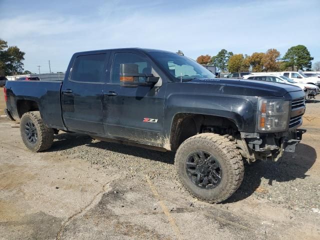
[[[150,55],[178,81],[215,77],[211,71],[186,56],[164,52],[150,52]]]

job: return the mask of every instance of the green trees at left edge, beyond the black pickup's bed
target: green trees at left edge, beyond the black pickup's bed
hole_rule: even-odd
[[[0,74],[15,74],[23,71],[24,52],[17,46],[9,46],[0,39]]]

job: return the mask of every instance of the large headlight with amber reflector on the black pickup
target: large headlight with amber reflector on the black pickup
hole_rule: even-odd
[[[257,129],[282,131],[288,126],[289,101],[258,97]]]

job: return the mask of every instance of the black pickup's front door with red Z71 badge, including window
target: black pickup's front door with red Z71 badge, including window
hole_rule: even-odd
[[[157,67],[140,52],[113,52],[110,82],[104,92],[104,127],[107,135],[162,143],[163,106],[166,84]],[[160,76],[155,86],[121,87],[120,64],[138,65],[139,73]],[[140,77],[140,81],[145,80]]]

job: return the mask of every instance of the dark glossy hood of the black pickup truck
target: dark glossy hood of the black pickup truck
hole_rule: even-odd
[[[194,84],[194,91],[198,90],[201,92],[203,92],[203,87],[205,87],[209,88],[211,92],[232,95],[284,96],[286,93],[293,91],[301,91],[301,95],[304,95],[300,87],[279,82],[225,78],[195,78],[191,81],[183,82],[183,84],[184,83]],[[208,87],[208,85],[215,87]]]

